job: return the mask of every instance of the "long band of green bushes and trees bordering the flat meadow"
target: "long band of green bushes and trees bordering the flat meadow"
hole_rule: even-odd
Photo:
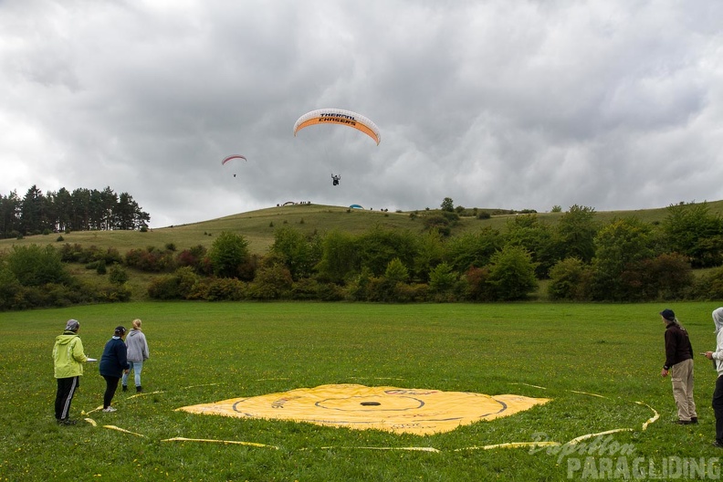
[[[454,221],[455,210],[443,207]],[[231,232],[208,248],[170,243],[124,255],[77,244],[16,246],[0,253],[0,309],[129,299],[131,271],[156,274],[152,299],[511,301],[529,299],[543,280],[556,300],[723,298],[723,219],[705,203],[670,205],[654,223],[634,216],[600,223],[592,207],[579,205],[550,224],[535,213],[512,216],[502,229],[481,223],[458,236],[445,236],[437,222],[323,235],[283,225],[263,255]],[[73,280],[68,263],[105,278]],[[707,269],[694,275],[694,268]]]

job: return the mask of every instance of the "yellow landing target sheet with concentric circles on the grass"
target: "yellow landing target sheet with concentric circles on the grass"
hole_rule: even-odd
[[[430,435],[547,403],[520,395],[442,392],[357,384],[321,385],[179,408],[192,414],[266,418]]]

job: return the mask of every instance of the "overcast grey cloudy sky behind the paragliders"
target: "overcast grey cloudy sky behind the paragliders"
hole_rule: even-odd
[[[153,227],[287,201],[719,200],[721,19],[720,0],[0,0],[0,194],[110,186]],[[381,143],[294,137],[330,107]]]

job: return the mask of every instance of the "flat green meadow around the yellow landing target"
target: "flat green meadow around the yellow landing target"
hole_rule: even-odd
[[[700,424],[672,424],[670,381],[659,374],[664,326],[657,312],[663,308],[139,302],[2,313],[0,480],[555,481],[581,478],[575,467],[586,460],[593,464],[588,478],[592,468],[598,478],[613,478],[607,460],[624,459],[632,470],[634,458],[652,478],[651,464],[663,470],[671,457],[712,464],[705,473],[711,478],[710,470],[719,470],[713,457],[723,456],[711,445],[716,373],[697,358]],[[714,348],[710,312],[717,305],[670,308],[697,352]],[[50,352],[69,318],[80,320],[89,356],[100,358],[113,328],[134,318],[143,320],[151,345],[145,393],[119,391],[117,413],[87,415],[97,426],[80,414],[102,403],[104,382],[94,364],[73,402],[79,424],[58,426],[53,417]],[[329,383],[516,393],[551,402],[427,436],[175,411]],[[617,429],[629,430],[564,445]],[[173,437],[278,448],[165,441]],[[594,448],[592,440],[604,445]],[[531,441],[563,445],[480,448]]]

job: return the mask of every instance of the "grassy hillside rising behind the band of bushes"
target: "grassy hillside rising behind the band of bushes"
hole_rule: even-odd
[[[723,215],[723,201],[708,202],[710,212]],[[471,209],[468,209],[471,211]],[[480,208],[480,212],[499,212],[499,209]],[[178,250],[191,246],[211,246],[215,235],[230,231],[243,235],[249,244],[252,253],[263,255],[268,246],[274,241],[274,231],[283,225],[291,225],[303,233],[319,233],[323,235],[331,230],[338,229],[351,233],[361,233],[374,225],[393,229],[407,229],[413,232],[424,230],[424,215],[432,215],[435,211],[418,210],[412,212],[382,212],[361,209],[350,209],[344,206],[320,204],[293,204],[287,206],[269,207],[228,215],[201,223],[188,225],[173,225],[148,232],[139,231],[82,231],[68,234],[51,234],[26,236],[23,239],[0,240],[0,250],[11,246],[37,244],[62,245],[65,243],[79,244],[84,247],[98,246],[100,248],[115,247],[125,254],[130,249],[145,248],[148,246],[162,247],[173,243]],[[564,213],[539,213],[541,222],[554,224]],[[631,211],[603,211],[596,213],[596,219],[604,224],[614,218],[635,216],[648,222],[660,222],[665,219],[666,208],[639,209]],[[452,236],[459,236],[469,231],[477,231],[485,226],[503,230],[511,215],[492,215],[489,219],[477,219],[474,216],[462,216],[458,225],[452,231]]]

